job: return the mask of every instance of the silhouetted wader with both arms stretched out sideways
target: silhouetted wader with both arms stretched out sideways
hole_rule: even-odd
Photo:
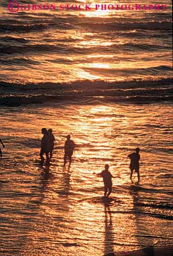
[[[103,178],[103,183],[105,186],[104,196],[109,197],[110,193],[112,193],[112,178],[116,178],[109,172],[109,164],[105,164],[105,170],[96,175],[101,176]]]

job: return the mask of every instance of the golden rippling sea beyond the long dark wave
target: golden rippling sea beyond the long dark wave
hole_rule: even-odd
[[[36,0],[20,3],[45,3]],[[47,1],[47,3],[52,3]],[[56,6],[66,1],[55,1]],[[70,1],[72,4],[104,1]],[[109,1],[115,4],[114,1]],[[118,1],[116,4],[132,4]],[[133,4],[138,3],[136,0]],[[160,80],[172,76],[171,1],[166,10],[33,10],[1,2],[0,74],[10,83]],[[140,1],[140,5],[151,4]]]

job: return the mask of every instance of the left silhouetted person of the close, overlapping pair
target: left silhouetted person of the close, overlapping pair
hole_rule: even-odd
[[[40,150],[40,157],[41,157],[41,163],[44,163],[44,157],[45,154],[47,157],[47,160],[49,159],[49,141],[48,141],[48,131],[45,128],[41,129],[41,133],[44,134],[43,138],[41,139],[41,150]]]

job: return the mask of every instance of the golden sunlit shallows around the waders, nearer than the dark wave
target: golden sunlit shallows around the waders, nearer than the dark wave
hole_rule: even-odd
[[[0,254],[97,256],[171,244],[171,109],[164,103],[1,108]],[[51,164],[43,167],[42,127],[52,128],[56,137]],[[78,146],[71,166],[63,167],[69,133]],[[138,189],[130,186],[126,157],[136,146]],[[108,203],[102,179],[93,175],[106,163],[121,177],[113,180]]]

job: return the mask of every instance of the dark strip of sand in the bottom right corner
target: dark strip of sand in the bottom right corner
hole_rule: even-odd
[[[109,253],[105,256],[173,256],[173,246],[146,247],[137,251]]]

